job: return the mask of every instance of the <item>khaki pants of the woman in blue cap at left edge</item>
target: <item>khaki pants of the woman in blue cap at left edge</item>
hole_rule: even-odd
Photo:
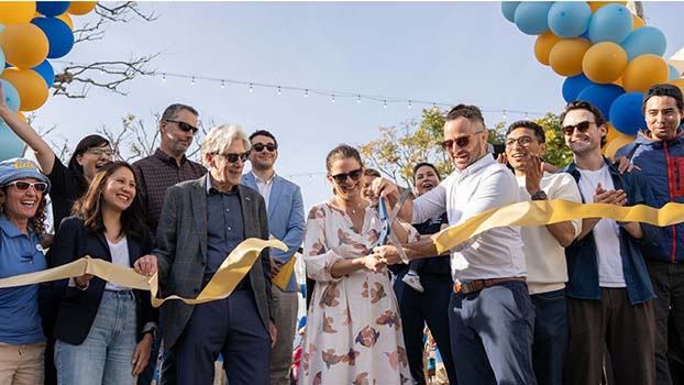
[[[0,384],[43,384],[45,342],[12,345],[0,342]]]

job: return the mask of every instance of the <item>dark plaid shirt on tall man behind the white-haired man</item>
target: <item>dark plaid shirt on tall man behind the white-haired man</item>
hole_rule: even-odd
[[[164,193],[178,183],[197,179],[207,174],[207,168],[183,156],[180,166],[173,157],[157,148],[153,155],[133,164],[140,194],[146,209],[146,223],[152,233],[156,232],[164,205]]]

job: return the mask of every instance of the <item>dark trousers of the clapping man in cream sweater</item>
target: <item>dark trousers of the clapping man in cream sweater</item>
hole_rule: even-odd
[[[567,349],[565,290],[530,295],[534,305],[532,366],[539,385],[563,383],[563,358]]]

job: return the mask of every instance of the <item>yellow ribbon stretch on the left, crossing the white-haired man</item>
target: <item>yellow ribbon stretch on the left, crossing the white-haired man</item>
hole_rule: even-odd
[[[225,257],[225,260],[223,260],[219,270],[197,298],[183,298],[176,295],[172,295],[164,299],[156,298],[158,293],[158,277],[156,273],[152,277],[146,277],[135,273],[135,271],[130,267],[117,266],[110,262],[90,257],[82,257],[69,264],[42,272],[0,279],[0,288],[40,284],[42,282],[92,274],[107,282],[124,287],[150,290],[152,295],[152,306],[154,307],[159,307],[169,299],[179,299],[188,305],[196,305],[230,296],[240,280],[250,272],[250,268],[252,268],[252,265],[254,265],[254,262],[265,248],[276,248],[287,251],[285,243],[278,240],[264,241],[250,238],[243,241]]]

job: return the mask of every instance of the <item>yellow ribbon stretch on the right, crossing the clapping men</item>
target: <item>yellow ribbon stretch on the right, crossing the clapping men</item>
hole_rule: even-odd
[[[432,235],[432,240],[438,254],[442,254],[494,228],[544,226],[585,218],[605,218],[663,227],[684,222],[684,204],[668,204],[654,209],[646,205],[621,207],[608,204],[578,204],[562,199],[525,201],[487,210],[456,227],[440,231]]]

